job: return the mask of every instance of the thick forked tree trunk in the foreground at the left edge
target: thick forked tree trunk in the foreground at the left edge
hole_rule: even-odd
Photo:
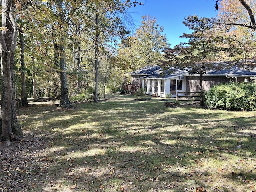
[[[18,30],[14,18],[14,0],[2,0],[2,28],[0,32],[1,73],[2,73],[2,134],[0,140],[10,141],[23,137],[18,126],[14,102],[14,52]],[[14,118],[14,119],[12,119]]]

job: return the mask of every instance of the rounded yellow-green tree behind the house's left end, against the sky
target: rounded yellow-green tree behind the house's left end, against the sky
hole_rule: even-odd
[[[142,16],[141,26],[135,34],[122,40],[120,44],[118,57],[123,68],[136,70],[163,60],[164,48],[170,47],[163,32],[164,28],[157,24],[154,17]]]

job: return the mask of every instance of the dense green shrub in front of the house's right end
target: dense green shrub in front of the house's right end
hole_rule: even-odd
[[[256,84],[234,83],[215,85],[206,92],[209,108],[256,110]]]

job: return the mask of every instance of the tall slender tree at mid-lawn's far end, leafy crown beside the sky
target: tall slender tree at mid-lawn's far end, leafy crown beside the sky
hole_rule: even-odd
[[[90,2],[93,7],[94,23],[91,24],[94,31],[94,101],[98,102],[98,78],[100,56],[108,49],[114,49],[113,46],[118,42],[116,38],[122,38],[128,31],[120,19],[120,15],[126,15],[126,9],[130,7],[130,1],[102,0],[99,2]],[[140,4],[139,2],[133,2]]]

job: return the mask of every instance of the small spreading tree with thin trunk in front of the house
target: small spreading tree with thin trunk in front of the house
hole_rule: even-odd
[[[223,58],[234,56],[238,52],[233,46],[232,38],[218,33],[213,25],[214,21],[214,18],[188,16],[183,23],[193,32],[182,35],[182,38],[188,38],[188,43],[183,42],[174,48],[166,49],[165,58],[168,61],[163,63],[164,68],[175,66],[199,74],[200,106],[204,105],[203,74],[212,69],[216,61],[222,61]]]

